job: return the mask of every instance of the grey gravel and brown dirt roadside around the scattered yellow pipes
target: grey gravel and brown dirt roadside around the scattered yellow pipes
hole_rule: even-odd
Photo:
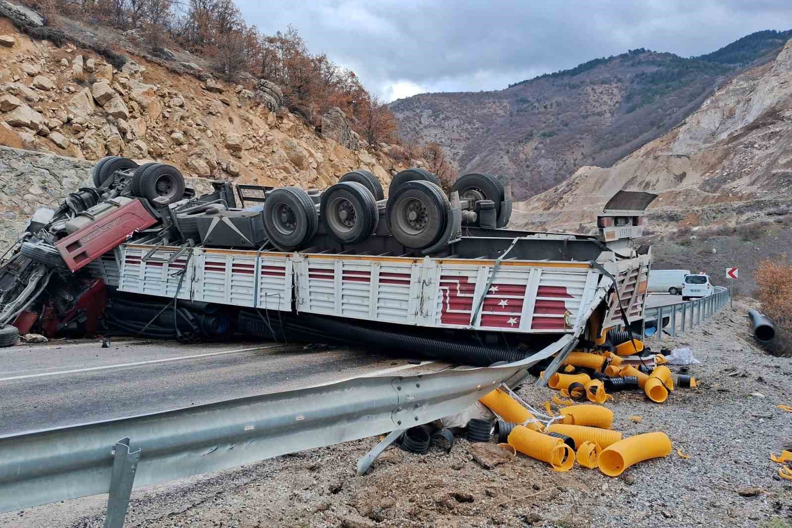
[[[618,478],[578,465],[554,473],[522,455],[485,469],[462,438],[449,454],[391,448],[371,472],[354,476],[356,460],[379,441],[367,438],[136,491],[125,526],[789,528],[792,482],[780,480],[769,454],[792,445],[792,414],[775,407],[792,404],[792,358],[771,357],[752,344],[745,309],[735,303],[733,312],[726,308],[695,334],[663,342],[689,346],[703,362],[691,368],[698,389],[677,390],[665,404],[636,393],[617,393],[607,403],[614,428],[625,436],[662,430],[673,442],[668,457]],[[731,369],[737,375],[729,376]],[[532,385],[520,391],[535,405],[552,394]],[[100,509],[93,511],[51,526],[102,526]]]

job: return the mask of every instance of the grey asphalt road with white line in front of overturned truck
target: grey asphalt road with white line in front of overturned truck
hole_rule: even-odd
[[[274,342],[12,346],[0,349],[0,435],[398,372],[410,359]]]

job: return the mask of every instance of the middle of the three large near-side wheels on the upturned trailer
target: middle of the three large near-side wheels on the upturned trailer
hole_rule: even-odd
[[[361,243],[377,228],[377,202],[362,183],[337,183],[322,193],[319,207],[322,224],[340,243]]]

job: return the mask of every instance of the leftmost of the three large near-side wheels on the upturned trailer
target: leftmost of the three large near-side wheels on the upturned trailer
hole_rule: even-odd
[[[299,187],[273,190],[264,202],[263,214],[269,238],[284,251],[307,243],[319,227],[314,201]]]

